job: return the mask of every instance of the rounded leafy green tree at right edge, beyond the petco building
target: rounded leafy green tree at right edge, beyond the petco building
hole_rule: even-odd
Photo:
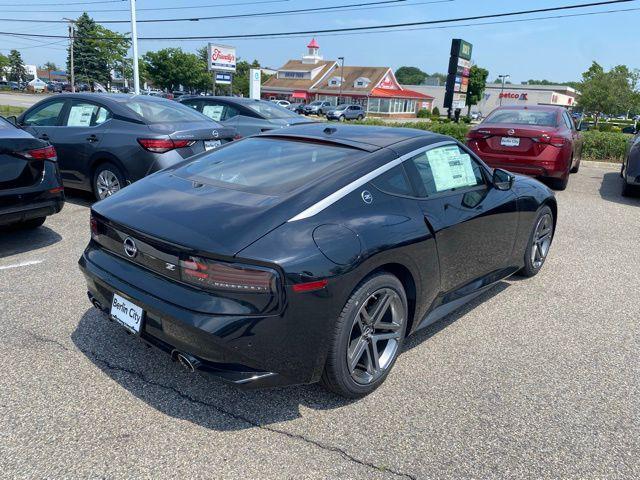
[[[603,113],[628,113],[638,102],[638,75],[626,65],[618,65],[607,72],[594,61],[582,74],[580,107],[595,115],[596,125]]]

